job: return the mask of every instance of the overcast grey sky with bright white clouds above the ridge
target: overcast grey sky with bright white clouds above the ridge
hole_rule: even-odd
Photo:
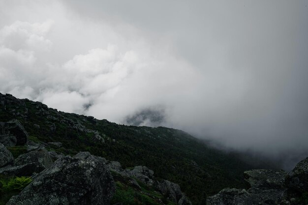
[[[0,92],[308,154],[307,0],[0,0]]]

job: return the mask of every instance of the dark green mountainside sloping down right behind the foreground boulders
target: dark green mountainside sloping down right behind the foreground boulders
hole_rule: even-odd
[[[29,152],[34,143],[53,151],[50,153],[53,160],[59,155],[74,156],[89,151],[118,161],[124,169],[147,166],[157,179],[179,184],[193,204],[227,186],[245,188],[242,173],[254,168],[181,130],[120,125],[106,119],[64,113],[10,94],[0,94],[0,121],[0,143],[15,158]],[[27,166],[6,172],[23,172],[29,170]],[[40,165],[35,172],[43,167]]]

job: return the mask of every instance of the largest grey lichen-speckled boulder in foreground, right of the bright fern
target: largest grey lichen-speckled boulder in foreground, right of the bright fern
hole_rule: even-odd
[[[6,205],[109,205],[115,183],[95,157],[58,159]]]

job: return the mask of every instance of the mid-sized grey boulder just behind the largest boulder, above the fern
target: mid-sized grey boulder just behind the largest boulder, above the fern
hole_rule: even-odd
[[[14,165],[20,166],[29,163],[34,163],[34,166],[31,169],[32,173],[40,173],[44,169],[50,167],[53,161],[45,147],[40,147],[17,157]]]

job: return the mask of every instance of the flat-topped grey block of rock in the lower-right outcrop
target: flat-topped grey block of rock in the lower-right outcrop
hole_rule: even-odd
[[[254,188],[280,189],[285,184],[287,172],[273,170],[250,170],[244,172],[245,180]]]

